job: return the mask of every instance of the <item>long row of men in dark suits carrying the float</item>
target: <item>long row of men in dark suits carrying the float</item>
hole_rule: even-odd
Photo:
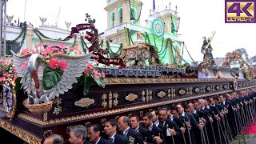
[[[82,144],[227,144],[243,135],[254,124],[256,93],[254,89],[198,99],[176,106],[150,110],[141,117],[130,114],[118,121],[109,119],[102,127],[70,128],[70,143]],[[243,135],[244,136],[244,135]],[[239,139],[244,142],[244,137]],[[58,134],[45,142],[63,143]]]

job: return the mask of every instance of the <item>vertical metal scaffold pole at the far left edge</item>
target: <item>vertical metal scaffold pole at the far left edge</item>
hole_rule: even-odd
[[[1,0],[1,17],[0,17],[0,57],[6,57],[6,2],[7,0]]]

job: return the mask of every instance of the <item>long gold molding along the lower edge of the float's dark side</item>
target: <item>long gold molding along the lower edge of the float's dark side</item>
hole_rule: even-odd
[[[255,88],[255,87],[256,86],[244,87],[244,88],[239,88],[238,90],[251,89],[251,88]],[[223,94],[223,93],[227,93],[227,92],[231,92],[231,91],[233,91],[233,90],[219,91],[219,92],[216,92],[214,94]],[[33,117],[30,117],[26,114],[18,114],[18,117],[23,118],[26,121],[34,122],[34,123],[36,123],[40,126],[46,126],[46,125],[60,124],[60,123],[64,123],[64,122],[73,122],[73,121],[79,121],[79,120],[86,120],[86,119],[95,118],[95,117],[102,117],[102,116],[106,116],[106,115],[110,115],[110,114],[124,113],[124,112],[128,112],[128,111],[131,111],[131,110],[142,110],[142,109],[146,109],[146,108],[149,108],[149,107],[168,105],[170,103],[175,103],[175,102],[190,101],[190,100],[196,99],[196,98],[209,97],[211,95],[213,95],[213,94],[201,94],[201,95],[194,96],[194,97],[170,99],[170,100],[166,100],[164,102],[145,103],[145,104],[141,104],[141,105],[138,105],[138,106],[123,107],[123,108],[120,108],[120,109],[105,110],[105,111],[99,111],[99,112],[96,112],[96,113],[81,114],[81,115],[66,117],[66,118],[56,118],[54,120],[49,120],[49,121],[42,121],[38,118],[33,118]]]

